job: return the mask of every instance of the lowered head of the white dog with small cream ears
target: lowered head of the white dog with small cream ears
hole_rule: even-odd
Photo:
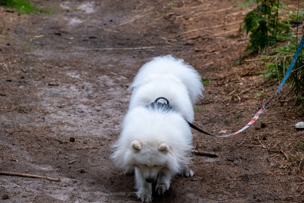
[[[166,143],[142,144],[138,140],[131,142],[133,164],[141,171],[144,179],[152,183],[163,168],[168,168],[171,149]]]

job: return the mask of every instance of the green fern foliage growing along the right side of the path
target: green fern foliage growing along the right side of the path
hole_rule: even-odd
[[[279,0],[245,0],[245,3],[238,7],[242,9],[249,4],[257,4],[257,7],[246,15],[244,23],[240,24],[241,28],[246,30],[246,34],[250,34],[246,51],[264,50],[268,46],[277,46],[277,42],[285,44],[273,48],[271,54],[261,56],[261,59],[267,62],[264,62],[266,69],[259,73],[272,81],[282,81],[299,45],[301,37],[292,33],[292,27],[297,28],[304,19],[304,12],[299,11],[299,2],[300,0],[298,10],[292,12],[285,11],[287,5],[280,3]],[[288,14],[289,18],[282,19],[279,11]],[[298,30],[295,33],[298,33]],[[286,83],[294,90],[295,101],[301,101],[299,106],[304,104],[304,49]]]

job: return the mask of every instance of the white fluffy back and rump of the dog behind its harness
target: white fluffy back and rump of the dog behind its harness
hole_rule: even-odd
[[[133,88],[130,109],[148,105],[163,96],[190,122],[195,101],[204,91],[201,77],[194,68],[171,55],[153,58],[143,65],[130,88]]]

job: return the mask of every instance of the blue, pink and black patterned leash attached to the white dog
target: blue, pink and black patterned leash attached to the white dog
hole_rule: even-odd
[[[265,111],[266,108],[268,107],[268,104],[272,101],[272,99],[274,98],[274,96],[278,93],[278,91],[282,88],[282,86],[283,86],[284,83],[286,82],[286,80],[287,80],[289,74],[290,74],[291,71],[292,71],[292,68],[293,68],[294,65],[295,65],[295,61],[297,61],[297,59],[298,59],[298,57],[299,57],[299,54],[300,54],[300,52],[301,52],[301,50],[302,50],[302,47],[303,47],[303,44],[304,44],[304,35],[302,36],[301,42],[300,42],[300,44],[299,44],[297,50],[295,51],[295,55],[293,56],[292,61],[291,61],[290,65],[289,65],[289,67],[288,67],[288,69],[287,69],[287,71],[286,71],[286,74],[285,74],[285,76],[284,76],[284,78],[283,78],[283,80],[282,80],[280,86],[278,87],[277,91],[276,91],[275,94],[270,98],[270,100],[269,100],[267,103],[265,103],[264,107],[262,107],[262,108],[257,112],[257,114],[255,114],[255,116],[251,119],[251,121],[249,121],[249,123],[248,123],[247,125],[244,126],[244,128],[242,128],[242,129],[240,129],[239,131],[236,131],[236,132],[234,132],[234,133],[231,133],[231,134],[229,134],[229,135],[211,135],[211,134],[206,133],[205,131],[199,129],[198,127],[196,127],[195,125],[193,125],[193,124],[191,124],[190,122],[187,121],[188,124],[190,125],[190,127],[191,127],[191,128],[194,128],[195,130],[197,130],[197,131],[199,131],[199,132],[202,132],[202,133],[204,133],[204,134],[206,134],[206,135],[211,135],[211,136],[214,136],[214,137],[221,137],[221,138],[230,137],[230,136],[232,136],[232,135],[237,135],[238,133],[240,133],[240,132],[246,130],[250,125],[252,125],[252,124],[253,124],[253,123],[254,123],[254,122],[255,122],[255,121],[264,113],[264,111]]]

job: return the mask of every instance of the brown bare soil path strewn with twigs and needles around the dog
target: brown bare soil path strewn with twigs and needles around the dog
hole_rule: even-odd
[[[278,82],[245,53],[242,2],[35,1],[53,15],[0,8],[0,202],[139,202],[133,174],[109,159],[130,99],[128,87],[152,57],[183,58],[209,79],[194,124],[213,134],[239,130]],[[289,3],[296,10],[297,1]],[[303,4],[303,2],[301,3]],[[299,33],[302,35],[302,33]],[[235,62],[244,56],[240,65]],[[257,96],[265,91],[264,96]],[[228,138],[193,130],[191,178],[174,177],[153,202],[303,202],[304,110],[285,85],[246,131]]]

